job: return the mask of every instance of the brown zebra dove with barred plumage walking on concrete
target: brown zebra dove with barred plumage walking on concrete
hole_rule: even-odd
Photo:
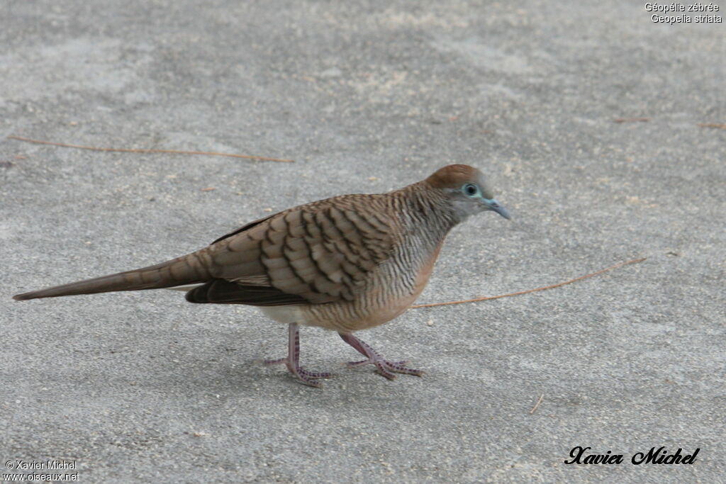
[[[446,234],[475,213],[509,213],[468,165],[449,165],[427,179],[386,194],[319,200],[248,223],[195,253],[109,276],[13,296],[55,298],[110,291],[170,288],[190,303],[256,305],[288,325],[284,363],[314,387],[327,372],[300,366],[298,324],[337,331],[392,380],[420,376],[406,361],[388,361],[353,332],[391,321],[428,282]]]

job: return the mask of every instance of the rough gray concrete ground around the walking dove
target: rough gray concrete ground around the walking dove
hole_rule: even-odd
[[[2,2],[0,466],[65,459],[81,482],[119,483],[724,482],[726,130],[699,123],[726,123],[726,30],[651,15],[612,0]],[[447,163],[488,173],[515,219],[457,228],[422,303],[648,260],[361,335],[423,378],[344,369],[354,351],[304,329],[305,364],[338,372],[323,390],[255,363],[283,355],[285,327],[254,308],[10,299]],[[563,464],[574,446],[624,463]],[[629,462],[653,446],[700,451]]]

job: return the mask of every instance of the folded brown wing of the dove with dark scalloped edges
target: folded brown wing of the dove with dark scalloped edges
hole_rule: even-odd
[[[354,300],[400,239],[381,196],[344,195],[248,224],[205,249],[213,280],[198,303],[286,305]]]

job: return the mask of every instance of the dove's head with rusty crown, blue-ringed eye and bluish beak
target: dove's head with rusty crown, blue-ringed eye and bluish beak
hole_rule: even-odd
[[[469,165],[447,165],[429,176],[425,182],[446,194],[454,214],[463,221],[470,215],[492,210],[504,218],[509,212],[494,198],[481,171]]]

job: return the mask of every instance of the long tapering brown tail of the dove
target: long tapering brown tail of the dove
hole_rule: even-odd
[[[62,286],[48,287],[38,291],[17,294],[12,298],[19,301],[38,298],[57,298],[78,294],[96,294],[111,291],[138,291],[162,289],[183,284],[197,284],[210,279],[209,272],[199,253],[182,255],[155,266],[119,272],[109,276],[71,282]]]

